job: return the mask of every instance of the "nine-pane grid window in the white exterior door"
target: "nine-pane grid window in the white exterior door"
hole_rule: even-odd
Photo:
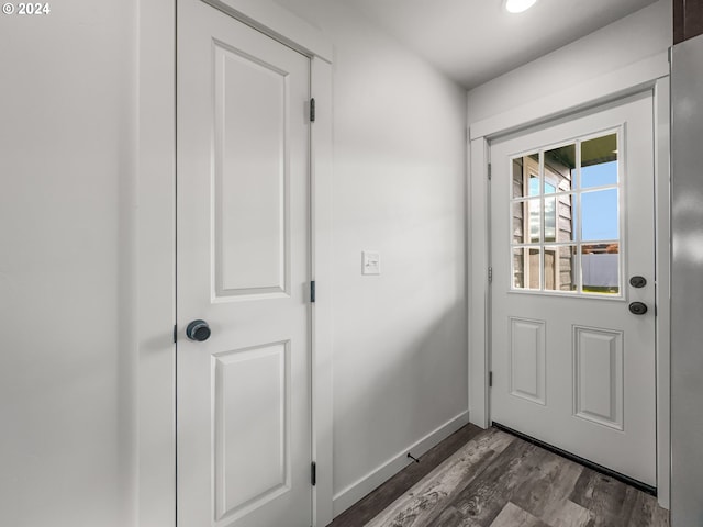
[[[621,296],[618,132],[511,158],[513,291]]]

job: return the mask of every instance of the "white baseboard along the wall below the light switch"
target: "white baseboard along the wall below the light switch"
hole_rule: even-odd
[[[413,456],[419,457],[436,446],[451,434],[457,431],[464,425],[469,423],[469,412],[461,412],[456,417],[453,417],[447,423],[442,425],[434,431],[431,431],[417,442],[408,446],[401,452],[393,458],[386,461],[378,469],[369,472],[356,483],[350,484],[346,489],[342,490],[333,496],[333,514],[338,516],[356,502],[361,500],[368,493],[387,482],[402,469],[404,469],[412,461],[408,459],[408,452],[413,452]]]

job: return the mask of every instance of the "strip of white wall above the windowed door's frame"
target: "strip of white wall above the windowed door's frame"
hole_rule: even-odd
[[[671,0],[659,0],[469,91],[469,124],[666,52]]]

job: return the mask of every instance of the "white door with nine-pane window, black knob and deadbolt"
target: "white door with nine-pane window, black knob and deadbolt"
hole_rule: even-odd
[[[491,417],[655,486],[652,145],[651,94],[491,144]]]

